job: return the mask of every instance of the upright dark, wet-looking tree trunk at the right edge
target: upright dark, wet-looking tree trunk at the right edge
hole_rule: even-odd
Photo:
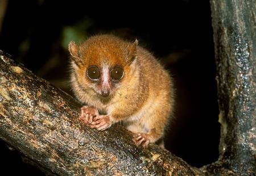
[[[207,168],[254,175],[256,1],[212,0],[210,6],[222,127],[219,161]]]

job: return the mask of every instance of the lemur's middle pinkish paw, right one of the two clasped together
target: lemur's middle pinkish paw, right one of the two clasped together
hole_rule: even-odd
[[[112,121],[109,115],[99,115],[93,118],[90,128],[96,128],[98,131],[103,131],[111,127]]]

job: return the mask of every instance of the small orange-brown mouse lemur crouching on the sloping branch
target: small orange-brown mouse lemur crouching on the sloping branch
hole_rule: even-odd
[[[134,133],[136,145],[163,146],[174,106],[172,79],[146,49],[113,35],[69,43],[71,82],[81,120],[103,131],[119,123]]]

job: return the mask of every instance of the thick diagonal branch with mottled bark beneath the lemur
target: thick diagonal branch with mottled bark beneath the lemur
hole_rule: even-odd
[[[156,145],[135,146],[119,125],[104,132],[86,127],[80,106],[0,53],[0,138],[47,174],[202,174]]]

